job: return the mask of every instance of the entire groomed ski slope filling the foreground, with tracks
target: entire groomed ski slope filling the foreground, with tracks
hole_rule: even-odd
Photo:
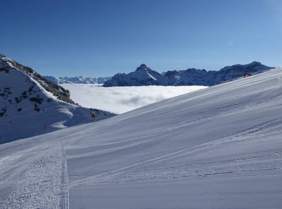
[[[281,209],[282,68],[0,145],[0,208]]]

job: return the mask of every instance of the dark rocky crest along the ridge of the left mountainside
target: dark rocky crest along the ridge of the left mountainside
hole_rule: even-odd
[[[72,101],[70,99],[70,92],[67,89],[64,89],[63,87],[53,83],[52,81],[48,81],[47,79],[43,78],[39,73],[37,73],[36,71],[32,70],[29,67],[23,66],[20,63],[14,61],[14,60],[10,60],[7,59],[6,56],[4,55],[0,55],[0,58],[5,58],[5,59],[1,59],[2,63],[9,63],[10,65],[12,65],[14,68],[26,73],[27,75],[29,75],[30,77],[32,77],[35,81],[37,81],[45,90],[53,93],[54,96],[56,96],[58,99],[70,103],[70,104],[76,104],[74,101]],[[3,68],[3,67],[2,67]],[[6,69],[9,69],[9,65],[7,64],[7,66],[5,66]],[[32,87],[31,87],[32,88]],[[32,90],[32,89],[30,89]]]

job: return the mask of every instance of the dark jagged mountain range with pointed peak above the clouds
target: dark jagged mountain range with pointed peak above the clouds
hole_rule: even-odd
[[[158,73],[142,64],[134,72],[128,74],[118,73],[104,83],[103,87],[123,86],[212,86],[223,81],[242,77],[245,70],[249,73],[257,73],[263,70],[273,69],[262,65],[260,62],[252,62],[247,65],[233,65],[222,68],[219,71],[206,71],[199,69],[173,70],[166,73]]]

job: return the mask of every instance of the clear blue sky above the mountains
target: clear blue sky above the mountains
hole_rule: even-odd
[[[282,66],[282,0],[1,0],[0,53],[42,75]]]

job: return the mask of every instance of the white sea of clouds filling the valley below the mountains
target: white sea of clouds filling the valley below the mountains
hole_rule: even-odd
[[[101,87],[93,84],[60,84],[71,92],[71,99],[84,107],[124,113],[146,104],[205,88],[203,86]]]

